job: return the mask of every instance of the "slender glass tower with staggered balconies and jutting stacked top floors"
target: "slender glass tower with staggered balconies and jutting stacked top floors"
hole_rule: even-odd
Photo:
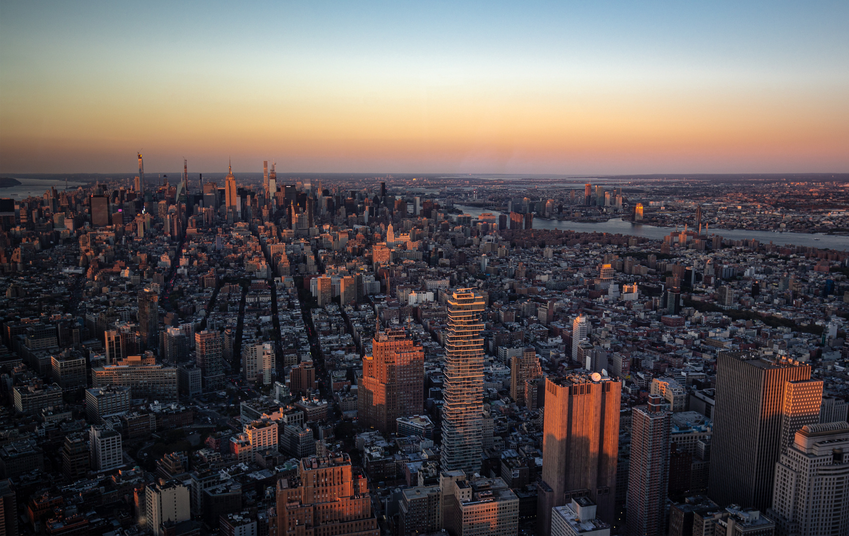
[[[441,470],[481,470],[483,446],[483,298],[459,288],[448,299]]]

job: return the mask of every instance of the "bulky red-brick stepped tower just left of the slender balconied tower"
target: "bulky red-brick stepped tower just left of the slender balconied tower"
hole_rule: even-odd
[[[374,333],[363,358],[357,416],[364,427],[396,433],[396,419],[419,415],[424,393],[424,348],[402,329]]]

